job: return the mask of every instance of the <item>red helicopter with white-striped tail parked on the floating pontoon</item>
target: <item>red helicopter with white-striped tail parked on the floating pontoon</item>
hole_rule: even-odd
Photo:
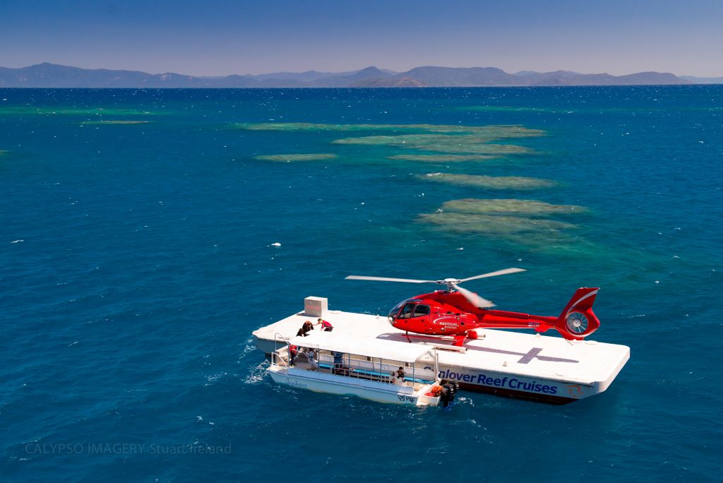
[[[347,280],[372,280],[406,283],[437,283],[446,289],[406,299],[389,312],[389,323],[405,330],[409,340],[410,332],[426,335],[451,335],[455,346],[461,346],[467,339],[476,339],[476,328],[534,329],[545,332],[555,329],[568,340],[581,341],[600,326],[592,311],[592,304],[599,288],[578,288],[570,302],[558,317],[544,317],[520,312],[490,310],[495,304],[459,286],[462,282],[478,278],[495,277],[508,273],[524,272],[523,268],[505,268],[496,272],[474,277],[445,278],[445,280],[414,280],[411,278],[364,277],[349,275]]]

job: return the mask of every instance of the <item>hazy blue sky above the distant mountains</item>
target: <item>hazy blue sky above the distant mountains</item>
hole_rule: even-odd
[[[723,0],[0,0],[0,66],[723,76]]]

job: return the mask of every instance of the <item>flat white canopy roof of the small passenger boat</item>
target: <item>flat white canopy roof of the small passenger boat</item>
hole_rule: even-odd
[[[401,362],[414,362],[432,350],[430,346],[378,338],[349,338],[348,335],[317,330],[306,337],[294,337],[289,341],[294,346],[313,347],[344,354],[356,354]]]

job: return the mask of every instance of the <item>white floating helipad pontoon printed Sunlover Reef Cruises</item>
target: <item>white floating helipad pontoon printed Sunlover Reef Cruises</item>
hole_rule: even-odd
[[[333,324],[335,335],[407,340],[383,316],[331,310],[323,317]],[[291,315],[254,330],[254,342],[270,354],[285,344],[284,338],[296,335],[304,321],[316,318],[304,312]],[[479,339],[466,341],[466,351],[439,351],[440,377],[457,380],[468,390],[501,396],[552,403],[587,398],[606,390],[630,358],[627,346],[505,330],[476,332]]]

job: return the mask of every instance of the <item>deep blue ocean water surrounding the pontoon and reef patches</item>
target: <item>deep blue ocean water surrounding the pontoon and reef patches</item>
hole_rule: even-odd
[[[324,126],[238,125],[300,122]],[[348,124],[544,136],[497,141],[527,154],[429,163],[335,143],[406,129]],[[297,153],[337,157],[254,158]],[[722,86],[0,89],[0,480],[719,479],[722,161]],[[430,172],[557,185],[415,176]],[[419,218],[466,198],[586,212],[560,218],[576,226],[563,239]],[[410,410],[278,388],[252,344],[304,296],[385,313],[416,294],[350,273],[510,266],[529,271],[467,286],[543,315],[602,287],[593,338],[631,349],[606,392]]]

